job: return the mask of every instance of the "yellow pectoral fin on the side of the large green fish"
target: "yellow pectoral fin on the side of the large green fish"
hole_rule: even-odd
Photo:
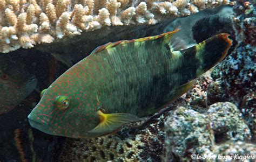
[[[139,120],[136,115],[125,113],[104,114],[102,111],[99,110],[97,111],[97,114],[99,116],[100,123],[89,132],[99,136],[111,133],[119,129],[125,123]]]

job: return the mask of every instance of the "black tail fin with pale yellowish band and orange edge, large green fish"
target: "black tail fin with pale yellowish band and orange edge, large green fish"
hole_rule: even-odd
[[[198,63],[196,76],[205,73],[226,57],[227,51],[232,45],[232,40],[228,36],[230,35],[227,33],[221,33],[181,51],[184,56],[192,57],[194,55],[196,57]]]

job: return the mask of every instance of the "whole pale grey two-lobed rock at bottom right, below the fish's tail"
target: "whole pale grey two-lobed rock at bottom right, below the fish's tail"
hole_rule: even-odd
[[[165,122],[164,161],[174,157],[189,161],[191,154],[213,156],[224,152],[229,142],[250,139],[250,129],[239,109],[230,102],[212,104],[205,114],[179,107],[170,113]],[[251,153],[255,149],[253,145]]]

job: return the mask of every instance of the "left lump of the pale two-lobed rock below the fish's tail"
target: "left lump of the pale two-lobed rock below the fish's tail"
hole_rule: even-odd
[[[210,121],[204,114],[179,107],[165,122],[165,161],[172,153],[183,160],[192,153],[212,154],[213,143]]]

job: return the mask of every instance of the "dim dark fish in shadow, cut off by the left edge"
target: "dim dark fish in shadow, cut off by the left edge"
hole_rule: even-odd
[[[22,64],[0,55],[0,115],[21,103],[35,89],[37,79]]]

